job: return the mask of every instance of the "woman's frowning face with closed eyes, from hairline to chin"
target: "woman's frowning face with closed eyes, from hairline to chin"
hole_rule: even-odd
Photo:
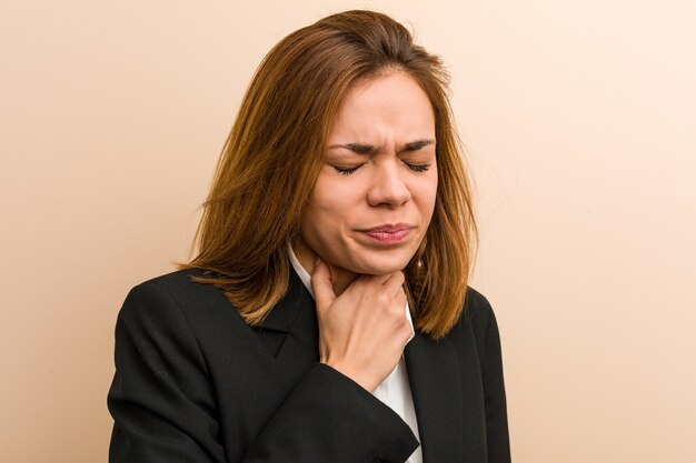
[[[430,101],[408,74],[355,87],[301,219],[308,251],[351,273],[402,270],[432,217],[435,143]]]

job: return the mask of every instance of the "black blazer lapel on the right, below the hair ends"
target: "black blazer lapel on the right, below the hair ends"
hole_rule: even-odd
[[[463,462],[464,404],[455,346],[416,332],[405,359],[424,463]]]

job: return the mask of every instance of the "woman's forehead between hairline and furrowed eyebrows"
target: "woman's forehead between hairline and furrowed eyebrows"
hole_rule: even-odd
[[[348,91],[331,139],[434,134],[435,114],[428,95],[410,76],[394,71],[362,80]]]

